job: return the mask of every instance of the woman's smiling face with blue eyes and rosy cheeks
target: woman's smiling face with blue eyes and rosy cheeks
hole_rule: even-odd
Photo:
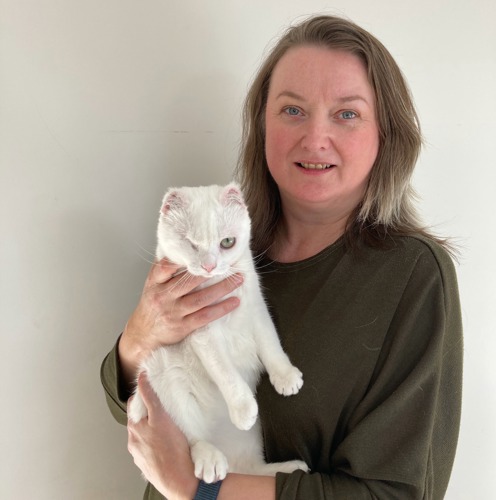
[[[346,217],[362,200],[379,149],[363,62],[342,50],[290,49],[274,68],[265,154],[283,209]]]

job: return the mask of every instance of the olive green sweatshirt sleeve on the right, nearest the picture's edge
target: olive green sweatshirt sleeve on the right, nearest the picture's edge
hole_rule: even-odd
[[[458,439],[462,322],[450,257],[426,245],[331,472],[277,475],[277,498],[444,498]]]

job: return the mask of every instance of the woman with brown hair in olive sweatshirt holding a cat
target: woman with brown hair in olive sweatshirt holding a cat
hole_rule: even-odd
[[[197,498],[443,498],[460,419],[462,326],[446,244],[412,205],[421,137],[401,72],[360,27],[311,18],[259,70],[244,125],[238,174],[253,247],[264,253],[281,342],[305,377],[294,398],[261,381],[264,445],[268,461],[300,458],[311,473],[228,474]],[[176,269],[153,266],[102,366],[121,423],[140,359],[237,306],[219,299],[239,282],[193,291],[198,278],[178,291]],[[139,384],[149,418],[128,426],[129,450],[154,485],[145,498],[193,498],[185,438],[144,377]]]

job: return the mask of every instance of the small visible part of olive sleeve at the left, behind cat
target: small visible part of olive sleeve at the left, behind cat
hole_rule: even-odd
[[[119,356],[117,354],[118,345],[119,340],[103,360],[100,369],[100,380],[105,391],[105,397],[110,412],[117,422],[122,425],[127,425],[127,400],[130,394],[123,394],[122,391],[119,390],[122,384]]]

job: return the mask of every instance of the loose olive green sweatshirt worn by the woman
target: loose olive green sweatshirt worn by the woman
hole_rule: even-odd
[[[304,460],[278,474],[281,500],[442,499],[455,456],[462,323],[448,254],[421,238],[356,254],[338,241],[293,264],[259,266],[301,391],[257,391],[268,461]],[[114,417],[126,423],[116,348],[102,365]],[[148,486],[145,499],[163,498]]]

